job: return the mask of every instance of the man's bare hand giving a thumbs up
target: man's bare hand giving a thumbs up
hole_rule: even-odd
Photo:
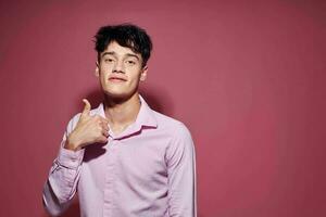
[[[90,103],[84,99],[85,107],[75,129],[68,135],[64,148],[73,151],[92,143],[106,143],[109,137],[108,119],[93,115],[90,116]]]

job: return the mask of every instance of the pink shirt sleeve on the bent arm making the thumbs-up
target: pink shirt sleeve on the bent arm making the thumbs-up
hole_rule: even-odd
[[[78,117],[74,117],[63,136],[58,157],[53,161],[49,177],[43,187],[43,205],[51,216],[61,215],[71,204],[76,193],[80,176],[84,150],[64,149],[67,136],[75,127]]]

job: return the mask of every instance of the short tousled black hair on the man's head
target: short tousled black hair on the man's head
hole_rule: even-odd
[[[147,64],[151,55],[151,38],[147,35],[145,29],[133,24],[102,26],[95,38],[95,49],[98,52],[99,61],[101,52],[103,52],[112,41],[116,41],[120,46],[131,49],[135,53],[140,53],[142,66]]]

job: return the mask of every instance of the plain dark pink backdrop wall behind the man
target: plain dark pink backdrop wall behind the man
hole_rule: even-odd
[[[143,95],[196,141],[200,217],[326,216],[325,1],[1,1],[0,216],[47,216],[65,125],[100,101],[92,36],[152,36]],[[65,216],[78,216],[75,203]]]

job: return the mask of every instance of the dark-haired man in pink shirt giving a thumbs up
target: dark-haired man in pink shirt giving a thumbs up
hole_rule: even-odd
[[[196,216],[195,151],[188,129],[154,112],[138,93],[152,43],[135,25],[96,35],[96,75],[103,103],[67,125],[43,188],[49,214],[61,215],[78,191],[82,216]]]

